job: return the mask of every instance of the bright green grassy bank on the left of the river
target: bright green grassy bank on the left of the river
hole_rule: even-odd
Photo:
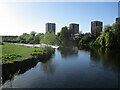
[[[0,58],[2,58],[2,64],[14,63],[14,61],[22,61],[32,58],[32,53],[36,51],[39,51],[40,54],[46,52],[44,48],[25,47],[10,43],[0,45],[0,48],[2,48],[2,55],[0,55]]]

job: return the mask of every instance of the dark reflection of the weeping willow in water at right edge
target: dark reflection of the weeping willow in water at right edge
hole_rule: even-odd
[[[118,68],[120,51],[109,48],[92,48],[91,49],[91,60],[100,61],[104,67]]]

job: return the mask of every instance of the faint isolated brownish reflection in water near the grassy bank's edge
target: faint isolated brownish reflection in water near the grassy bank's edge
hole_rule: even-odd
[[[40,64],[41,69],[48,75],[52,75],[55,72],[56,65],[52,62],[52,60],[47,60],[44,63]]]

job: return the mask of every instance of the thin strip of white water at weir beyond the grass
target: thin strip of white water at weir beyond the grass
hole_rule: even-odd
[[[54,46],[54,45],[47,45],[47,44],[23,44],[23,43],[14,43],[16,45],[23,45],[23,46],[27,46],[27,47],[45,47],[45,46],[49,46],[52,48],[59,48],[60,46]]]

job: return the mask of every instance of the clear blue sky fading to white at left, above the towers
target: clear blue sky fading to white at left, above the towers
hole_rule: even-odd
[[[2,7],[5,14],[2,15],[5,28],[0,32],[2,35],[45,33],[47,22],[56,23],[56,32],[70,23],[78,23],[80,31],[85,33],[90,32],[91,21],[112,25],[118,17],[117,2],[14,2]]]

